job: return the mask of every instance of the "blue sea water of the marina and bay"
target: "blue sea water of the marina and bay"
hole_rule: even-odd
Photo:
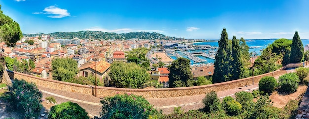
[[[254,52],[256,55],[260,55],[262,50],[265,49],[269,44],[272,44],[276,39],[252,39],[252,40],[246,40],[246,44],[249,46],[249,53]],[[309,44],[309,39],[303,39],[302,43],[304,47]],[[207,42],[196,42],[193,43],[193,45],[210,45],[213,47],[218,47],[218,41],[207,41]],[[184,56],[184,54],[180,51],[176,51],[178,54],[182,55],[182,57],[189,59],[188,57]],[[189,50],[188,52],[216,52],[216,50],[208,49],[208,50],[201,50],[201,49],[195,49],[195,50]],[[176,56],[171,56],[172,59],[177,59]],[[215,62],[214,59],[207,58],[204,56],[196,56],[200,59],[206,60],[206,62],[199,62],[195,63],[193,60],[190,59],[191,65],[201,65],[201,64],[213,64]]]

